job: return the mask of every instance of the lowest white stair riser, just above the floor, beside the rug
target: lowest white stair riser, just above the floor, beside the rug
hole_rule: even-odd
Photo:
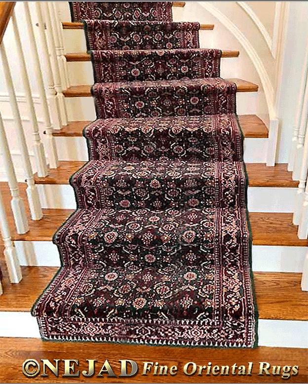
[[[21,327],[20,324],[23,324]],[[259,346],[308,347],[308,322],[259,320]],[[37,319],[30,312],[0,312],[0,337],[39,338]]]

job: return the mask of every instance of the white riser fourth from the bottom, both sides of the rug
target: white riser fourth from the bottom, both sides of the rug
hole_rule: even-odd
[[[88,161],[88,150],[83,137],[56,136],[59,160]],[[247,163],[266,162],[268,139],[247,138],[244,141],[244,161]]]

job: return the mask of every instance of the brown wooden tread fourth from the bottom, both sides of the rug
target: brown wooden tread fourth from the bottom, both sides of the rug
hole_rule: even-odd
[[[240,126],[244,136],[249,138],[267,138],[269,130],[265,123],[256,115],[239,115]],[[53,136],[82,137],[82,130],[91,121],[69,121],[62,129],[54,129]]]

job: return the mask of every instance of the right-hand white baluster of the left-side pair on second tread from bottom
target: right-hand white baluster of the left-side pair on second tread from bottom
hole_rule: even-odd
[[[39,193],[37,190],[37,186],[34,184],[33,171],[32,171],[29,152],[26,144],[26,138],[25,138],[22,122],[21,122],[13,80],[9,70],[3,41],[0,45],[0,53],[1,53],[1,59],[3,64],[4,77],[6,79],[7,89],[8,89],[9,98],[10,98],[10,104],[11,104],[11,108],[12,108],[13,116],[15,120],[16,133],[19,141],[20,152],[21,152],[22,160],[25,166],[25,174],[26,174],[27,185],[28,185],[27,195],[28,195],[31,217],[33,220],[39,220],[42,218],[42,210],[39,202]]]

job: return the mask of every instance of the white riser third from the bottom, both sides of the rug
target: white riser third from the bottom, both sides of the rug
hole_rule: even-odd
[[[76,209],[73,188],[68,184],[38,184],[42,208]],[[248,187],[249,212],[293,213],[296,188]]]

